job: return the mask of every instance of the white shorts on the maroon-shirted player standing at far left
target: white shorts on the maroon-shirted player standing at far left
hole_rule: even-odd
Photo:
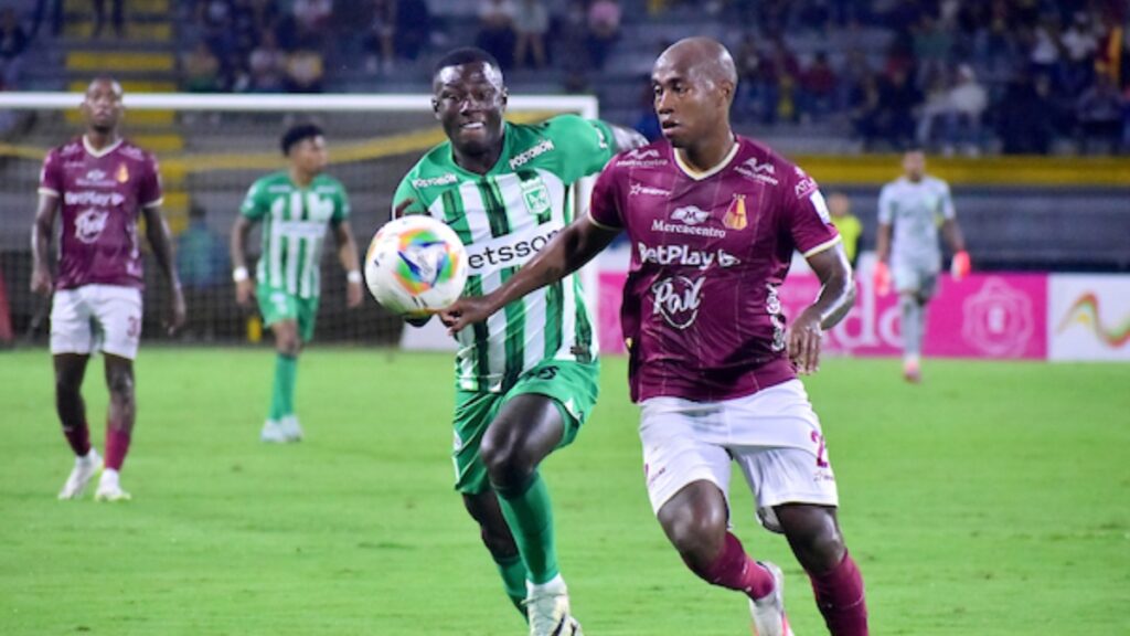
[[[101,350],[133,360],[141,342],[141,290],[84,285],[59,290],[51,302],[51,353]]]

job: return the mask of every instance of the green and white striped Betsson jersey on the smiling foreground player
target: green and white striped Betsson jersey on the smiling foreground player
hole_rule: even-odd
[[[407,214],[447,223],[467,246],[464,295],[490,293],[573,220],[575,182],[614,154],[607,123],[558,115],[536,126],[506,123],[503,152],[487,174],[455,164],[450,143],[433,148],[400,182],[392,200]],[[568,276],[463,329],[455,359],[459,388],[505,392],[542,360],[596,359],[592,320],[580,281]]]

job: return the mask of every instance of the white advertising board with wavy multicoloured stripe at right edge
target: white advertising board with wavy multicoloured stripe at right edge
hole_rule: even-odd
[[[1130,362],[1130,276],[1053,274],[1050,292],[1051,360]]]

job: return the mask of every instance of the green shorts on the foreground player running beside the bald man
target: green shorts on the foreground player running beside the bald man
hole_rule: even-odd
[[[479,457],[479,444],[490,422],[512,398],[539,394],[553,399],[565,422],[565,433],[557,448],[573,442],[581,424],[597,404],[600,392],[600,362],[546,360],[522,373],[505,393],[455,392],[455,490],[477,495],[490,488],[487,469]]]

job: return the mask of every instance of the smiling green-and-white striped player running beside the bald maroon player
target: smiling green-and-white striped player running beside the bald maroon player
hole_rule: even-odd
[[[498,62],[459,49],[435,66],[432,108],[447,141],[403,178],[394,215],[446,222],[468,250],[468,294],[489,293],[573,217],[576,181],[646,141],[603,121],[558,115],[508,123]],[[557,566],[538,464],[576,437],[597,401],[592,321],[568,276],[459,336],[455,489],[530,634],[580,634]]]

